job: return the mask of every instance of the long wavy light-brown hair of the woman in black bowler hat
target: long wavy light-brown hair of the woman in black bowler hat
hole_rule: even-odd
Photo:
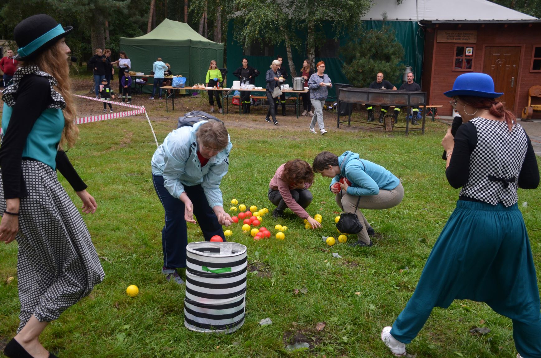
[[[64,114],[64,130],[60,140],[60,148],[62,148],[63,144],[67,144],[67,147],[71,148],[77,140],[79,129],[75,124],[77,110],[71,96],[68,59],[62,53],[61,41],[59,40],[36,57],[21,61],[21,67],[35,64],[40,70],[47,72],[58,81],[55,90],[64,97],[66,103],[66,108],[62,111]]]

